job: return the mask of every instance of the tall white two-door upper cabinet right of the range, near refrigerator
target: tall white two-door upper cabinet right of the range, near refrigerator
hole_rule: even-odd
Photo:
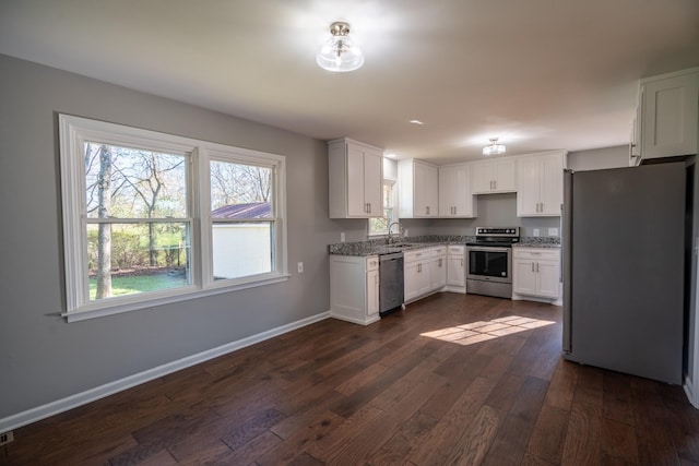
[[[566,151],[518,157],[518,217],[560,216],[565,167]]]

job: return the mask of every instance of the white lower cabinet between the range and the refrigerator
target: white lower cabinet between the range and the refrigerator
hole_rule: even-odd
[[[560,304],[560,250],[513,248],[512,299],[543,298]],[[542,300],[542,299],[534,299]]]

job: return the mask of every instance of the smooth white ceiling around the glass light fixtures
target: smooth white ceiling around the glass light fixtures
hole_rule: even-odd
[[[352,73],[315,62],[339,20]],[[1,0],[0,53],[442,164],[626,144],[638,79],[699,64],[699,0]]]

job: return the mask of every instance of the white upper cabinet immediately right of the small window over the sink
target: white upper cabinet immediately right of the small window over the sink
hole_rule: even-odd
[[[420,160],[399,160],[400,218],[437,217],[439,188],[437,167]]]

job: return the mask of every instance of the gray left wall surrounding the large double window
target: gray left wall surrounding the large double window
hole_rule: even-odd
[[[322,141],[0,56],[0,419],[329,310]],[[287,157],[288,282],[68,324],[57,112]],[[305,273],[296,274],[296,262]]]

